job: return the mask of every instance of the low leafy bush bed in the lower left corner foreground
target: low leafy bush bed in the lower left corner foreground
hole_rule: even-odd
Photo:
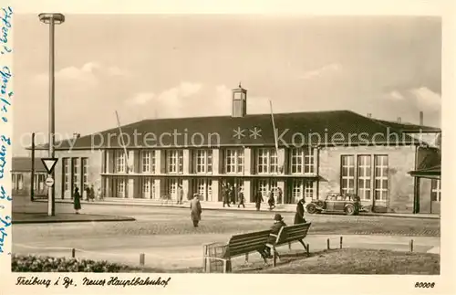
[[[13,255],[13,272],[121,272],[126,266],[108,261]]]

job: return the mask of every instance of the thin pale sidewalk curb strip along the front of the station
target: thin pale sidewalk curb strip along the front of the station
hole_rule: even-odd
[[[47,200],[36,200],[35,202],[47,202]],[[62,201],[62,200],[56,200],[56,203],[59,203],[59,204],[72,204],[72,202],[69,202],[69,201]],[[140,203],[137,203],[137,204],[134,204],[134,203],[121,203],[121,202],[111,202],[111,201],[95,201],[95,202],[87,202],[87,201],[83,201],[83,203],[81,204],[84,204],[84,205],[134,205],[134,206],[142,206],[142,207],[165,207],[165,208],[178,208],[178,209],[188,209],[187,206],[182,206],[182,205],[157,205],[157,204],[140,204]],[[277,209],[275,208],[274,210],[272,211],[269,211],[269,210],[260,210],[260,211],[256,211],[255,209],[251,209],[251,208],[224,208],[224,207],[220,207],[220,208],[214,208],[214,207],[203,207],[204,210],[211,210],[211,211],[225,211],[225,212],[236,212],[236,211],[247,211],[249,213],[265,213],[265,212],[277,212],[277,213],[295,213],[295,210],[291,210],[291,209]],[[416,216],[404,216],[404,215],[395,215],[395,214],[389,214],[389,213],[362,213],[360,214],[359,216],[382,216],[382,217],[391,217],[391,218],[412,218],[412,219],[439,219],[440,220],[440,216],[420,216],[420,215],[416,215]]]

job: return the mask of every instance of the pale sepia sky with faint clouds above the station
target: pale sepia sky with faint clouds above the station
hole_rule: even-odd
[[[46,142],[48,26],[16,15],[14,155]],[[418,16],[67,15],[57,139],[152,118],[351,110],[440,127],[441,21]]]

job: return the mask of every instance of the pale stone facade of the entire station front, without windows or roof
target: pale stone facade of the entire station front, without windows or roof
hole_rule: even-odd
[[[121,151],[120,151],[121,152]],[[312,198],[324,198],[328,193],[341,192],[341,156],[370,154],[388,155],[388,198],[382,202],[374,203],[371,200],[363,200],[363,205],[376,205],[378,211],[387,210],[389,212],[412,212],[414,197],[414,179],[408,174],[415,168],[416,147],[330,147],[316,149],[314,153],[315,177],[309,175],[291,174],[290,151],[281,149],[279,152],[285,157],[285,171],[283,174],[264,174],[260,175],[256,171],[256,149],[244,149],[244,163],[242,171],[233,174],[227,173],[224,149],[212,149],[212,172],[207,174],[196,174],[195,164],[192,159],[192,152],[183,151],[182,171],[177,174],[170,174],[166,169],[166,150],[155,150],[155,167],[150,174],[141,173],[141,158],[139,150],[129,151],[130,162],[133,163],[132,170],[124,174],[117,174],[115,171],[115,152],[106,151],[71,151],[70,153],[57,151],[59,161],[56,165],[56,197],[69,198],[70,192],[63,190],[63,158],[88,159],[88,183],[94,184],[97,190],[101,187],[106,196],[118,196],[126,198],[144,197],[143,187],[146,179],[149,179],[150,190],[153,193],[145,198],[161,199],[163,195],[170,195],[172,201],[177,200],[177,193],[170,192],[170,183],[176,181],[182,184],[184,199],[188,198],[198,190],[201,179],[208,182],[207,192],[210,195],[205,200],[217,202],[222,201],[221,188],[223,183],[231,183],[234,186],[243,186],[244,197],[247,203],[254,202],[254,194],[259,190],[258,185],[261,181],[276,180],[275,187],[280,187],[283,192],[283,200],[287,204],[294,204],[293,185],[295,181],[311,182],[308,184],[314,195],[307,195],[307,201]],[[70,160],[71,161],[71,160]],[[60,176],[57,176],[60,175]],[[146,178],[147,177],[147,178]],[[200,179],[200,180],[198,180]],[[119,182],[125,182],[125,195],[119,196],[116,190]],[[356,182],[358,183],[358,182]],[[80,185],[78,185],[80,187]],[[358,188],[357,188],[358,191]],[[209,193],[210,192],[210,193]],[[266,201],[266,200],[264,200]],[[279,201],[279,200],[276,200]]]

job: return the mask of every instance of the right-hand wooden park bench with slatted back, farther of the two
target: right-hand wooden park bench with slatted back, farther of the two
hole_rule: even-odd
[[[303,245],[304,249],[306,250],[307,256],[309,254],[309,248],[304,243],[304,238],[307,236],[307,232],[309,231],[311,223],[303,223],[294,226],[287,226],[282,227],[277,235],[271,234],[271,236],[275,237],[275,242],[267,243],[266,246],[271,248],[273,251],[273,267],[275,267],[277,262],[277,257],[280,258],[276,248],[281,247],[284,245],[288,245],[291,249],[291,243],[299,242]]]

